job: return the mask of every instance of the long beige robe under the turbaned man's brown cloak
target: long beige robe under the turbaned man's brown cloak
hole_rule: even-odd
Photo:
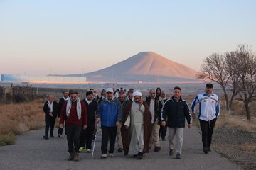
[[[132,102],[132,108],[129,112],[124,125],[129,126],[131,141],[128,154],[138,154],[144,149],[144,111],[145,107],[139,103]]]

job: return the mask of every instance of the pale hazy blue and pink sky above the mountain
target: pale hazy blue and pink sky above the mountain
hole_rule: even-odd
[[[0,74],[92,72],[152,51],[199,70],[256,50],[256,1],[0,0]]]

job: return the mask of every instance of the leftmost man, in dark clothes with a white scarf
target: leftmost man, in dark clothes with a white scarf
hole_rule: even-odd
[[[55,125],[55,120],[57,118],[58,114],[58,103],[56,101],[53,101],[53,95],[48,96],[48,101],[45,102],[43,106],[43,111],[46,114],[46,130],[45,130],[45,135],[43,138],[48,140],[48,132],[49,132],[49,127],[50,127],[50,137],[53,136],[53,130],[54,130],[54,125]]]

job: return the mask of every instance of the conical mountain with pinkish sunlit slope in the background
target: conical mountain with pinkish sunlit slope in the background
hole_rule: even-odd
[[[155,52],[139,52],[117,64],[96,72],[76,74],[87,81],[100,82],[185,82],[196,81],[196,71]],[[70,75],[71,76],[71,75]]]

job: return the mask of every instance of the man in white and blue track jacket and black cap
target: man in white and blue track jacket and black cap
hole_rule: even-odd
[[[200,126],[202,130],[203,152],[208,154],[218,115],[220,114],[219,99],[213,94],[213,84],[206,84],[206,92],[198,94],[191,104],[192,118],[196,118],[196,104],[199,103]]]

